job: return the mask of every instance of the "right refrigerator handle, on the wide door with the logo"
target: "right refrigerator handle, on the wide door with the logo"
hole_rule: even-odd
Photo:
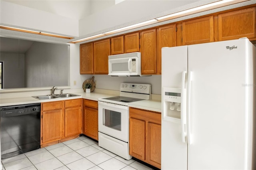
[[[192,144],[191,122],[190,122],[190,98],[191,98],[192,72],[188,71],[188,94],[187,94],[187,138],[188,144]]]

